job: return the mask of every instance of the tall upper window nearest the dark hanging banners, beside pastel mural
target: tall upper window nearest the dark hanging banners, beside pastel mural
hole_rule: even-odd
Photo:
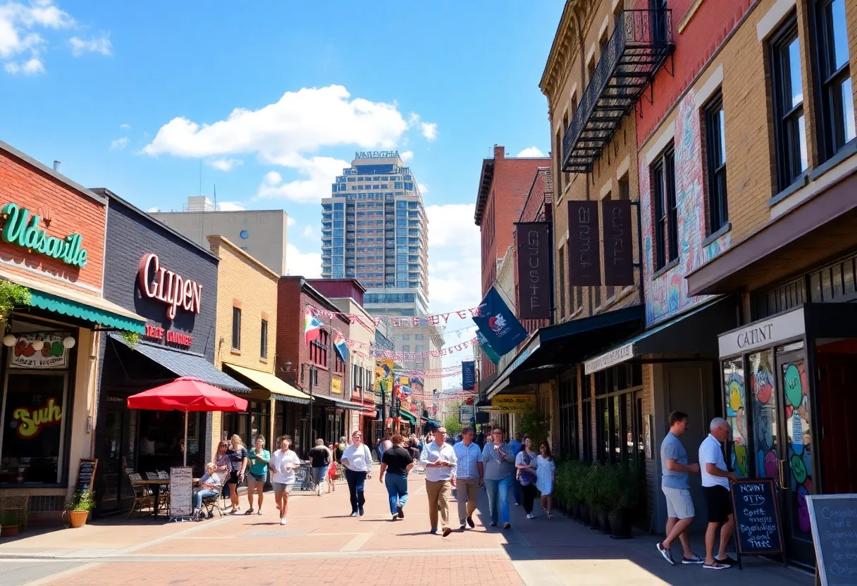
[[[655,269],[679,255],[679,214],[675,205],[675,152],[670,144],[651,166],[655,196]]]

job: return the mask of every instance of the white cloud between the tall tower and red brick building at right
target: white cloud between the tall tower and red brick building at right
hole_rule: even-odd
[[[482,290],[473,204],[428,206],[428,296],[432,312],[473,308]]]

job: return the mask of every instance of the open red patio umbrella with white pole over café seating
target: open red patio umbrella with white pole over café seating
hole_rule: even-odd
[[[184,411],[184,465],[188,465],[188,413],[190,411],[246,411],[247,399],[236,397],[190,376],[138,392],[128,398],[129,409]]]

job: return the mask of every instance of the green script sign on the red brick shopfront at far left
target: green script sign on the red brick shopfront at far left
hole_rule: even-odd
[[[80,234],[75,232],[63,238],[48,236],[47,232],[39,227],[41,216],[16,203],[6,204],[0,212],[5,220],[3,232],[0,233],[3,242],[45,254],[72,266],[87,266],[88,253],[86,248],[81,247],[83,236]],[[46,220],[50,222],[50,218]]]

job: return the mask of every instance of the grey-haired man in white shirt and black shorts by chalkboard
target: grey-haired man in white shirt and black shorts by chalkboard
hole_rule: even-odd
[[[702,475],[702,493],[708,508],[708,528],[705,529],[705,563],[708,570],[725,570],[735,565],[726,554],[726,546],[732,539],[734,521],[732,504],[729,502],[729,481],[735,480],[734,472],[726,468],[722,444],[732,437],[732,427],[722,417],[715,417],[709,426],[710,434],[699,445],[699,473]],[[720,551],[714,556],[714,540],[720,529]]]

